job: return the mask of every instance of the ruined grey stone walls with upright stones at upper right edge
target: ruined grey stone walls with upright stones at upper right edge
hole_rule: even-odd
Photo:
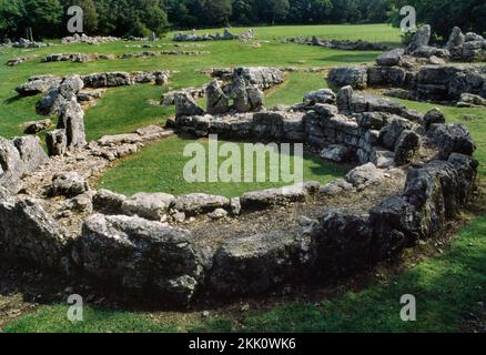
[[[351,85],[360,90],[394,88],[386,94],[406,100],[446,102],[457,106],[484,106],[486,67],[447,63],[447,60],[453,58],[470,59],[468,54],[467,58],[452,57],[449,49],[454,44],[456,53],[459,52],[459,48],[466,48],[463,53],[467,53],[467,43],[480,41],[467,42],[466,39],[478,39],[478,37],[468,33],[463,42],[455,41],[456,37],[463,38],[459,36],[460,31],[455,29],[446,45],[448,49],[439,49],[428,45],[429,32],[428,26],[423,27],[407,49],[394,49],[383,53],[376,59],[377,65],[333,69],[327,79],[330,85],[332,88]]]

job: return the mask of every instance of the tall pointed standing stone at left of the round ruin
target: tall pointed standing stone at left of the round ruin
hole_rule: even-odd
[[[77,149],[87,144],[84,111],[75,98],[62,105],[58,121],[59,129],[65,130],[68,149]]]

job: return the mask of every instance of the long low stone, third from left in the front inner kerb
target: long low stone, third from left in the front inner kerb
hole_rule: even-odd
[[[207,195],[204,193],[192,193],[176,196],[172,210],[184,212],[188,216],[213,212],[216,209],[227,210],[230,200],[224,196]]]

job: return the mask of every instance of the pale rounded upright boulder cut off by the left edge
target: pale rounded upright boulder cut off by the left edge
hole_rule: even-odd
[[[20,178],[26,173],[24,163],[12,142],[0,136],[0,185],[16,194],[22,187]]]

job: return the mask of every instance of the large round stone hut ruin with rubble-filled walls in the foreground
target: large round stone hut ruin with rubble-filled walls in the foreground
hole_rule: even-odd
[[[151,126],[87,143],[72,99],[59,120],[70,153],[48,158],[34,136],[0,139],[1,253],[189,304],[354,273],[434,237],[472,199],[474,142],[463,124],[445,124],[441,111],[422,115],[344,87],[337,94],[311,92],[287,109],[237,112],[247,89],[261,90],[245,79],[251,72],[236,70],[227,84],[241,95],[233,108],[219,82],[207,87],[212,113],[176,95],[175,132],[303,142],[357,168],[326,185],[305,182],[235,199],[94,191],[89,181],[111,161],[172,132]]]

